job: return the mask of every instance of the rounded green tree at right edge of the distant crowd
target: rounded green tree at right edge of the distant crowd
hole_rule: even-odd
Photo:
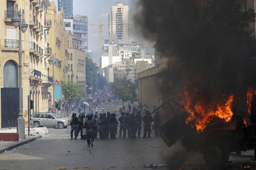
[[[115,78],[113,83],[110,83],[110,88],[114,95],[118,97],[118,99],[122,100],[124,105],[124,101],[134,102],[137,99],[137,94],[135,92],[135,85],[132,81],[126,78]]]

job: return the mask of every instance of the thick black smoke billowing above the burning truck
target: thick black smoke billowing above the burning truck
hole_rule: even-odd
[[[169,67],[158,78],[165,99],[198,83],[206,102],[246,98],[256,85],[256,43],[246,31],[255,14],[238,0],[138,0],[134,17]],[[160,80],[161,78],[161,80]],[[246,103],[245,103],[246,104]]]

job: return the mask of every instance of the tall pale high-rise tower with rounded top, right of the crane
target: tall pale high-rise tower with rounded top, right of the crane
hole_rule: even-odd
[[[127,4],[116,3],[108,14],[109,35],[117,40],[129,40],[129,8]]]

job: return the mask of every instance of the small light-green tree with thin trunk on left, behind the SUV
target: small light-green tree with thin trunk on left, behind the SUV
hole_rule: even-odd
[[[73,81],[63,83],[62,85],[62,94],[64,95],[64,115],[66,111],[66,103],[68,101],[76,100],[79,97],[78,86],[74,84]]]

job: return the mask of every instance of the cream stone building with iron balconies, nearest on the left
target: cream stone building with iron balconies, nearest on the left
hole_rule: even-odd
[[[0,1],[0,128],[16,127],[19,107],[19,28],[11,21],[16,13],[16,5],[24,10],[28,29],[21,34],[22,46],[22,106],[25,122],[28,120],[28,95],[34,101],[32,113],[47,109],[47,32],[51,21],[46,17],[49,0],[1,0]]]

